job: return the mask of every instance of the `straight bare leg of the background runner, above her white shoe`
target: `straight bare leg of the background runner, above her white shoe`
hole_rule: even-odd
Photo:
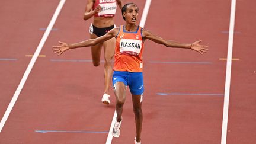
[[[105,63],[104,63],[104,80],[105,80],[105,87],[104,87],[104,93],[108,94],[110,85],[111,85],[111,78],[112,78],[112,59],[114,56],[114,50],[115,50],[115,43],[116,40],[110,39],[107,40],[103,43],[104,46],[104,58],[105,58]]]

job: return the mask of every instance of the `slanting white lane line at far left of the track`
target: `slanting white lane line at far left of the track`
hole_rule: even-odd
[[[52,30],[52,27],[55,24],[55,21],[56,21],[58,15],[59,15],[63,5],[65,4],[65,1],[66,0],[60,0],[59,5],[58,5],[55,13],[53,14],[52,20],[50,21],[50,23],[49,23],[49,25],[48,25],[48,27],[47,27],[44,35],[43,35],[43,38],[41,39],[41,41],[39,43],[39,46],[37,46],[36,52],[34,53],[32,59],[30,60],[30,63],[28,64],[28,67],[27,67],[27,69],[26,69],[26,71],[23,75],[23,78],[21,79],[20,84],[18,85],[18,88],[16,89],[16,91],[15,91],[13,97],[12,97],[12,100],[8,105],[8,108],[5,111],[4,117],[2,117],[2,120],[0,122],[0,133],[2,131],[2,128],[4,127],[5,122],[8,119],[9,114],[11,113],[12,108],[14,107],[14,104],[16,103],[16,101],[18,99],[18,96],[20,95],[21,89],[23,89],[25,81],[27,81],[28,75],[30,74],[30,71],[34,66],[34,63],[36,62],[36,59],[39,56],[39,53],[40,53],[41,49],[43,48],[43,45],[44,45],[47,37],[49,36],[50,31]]]

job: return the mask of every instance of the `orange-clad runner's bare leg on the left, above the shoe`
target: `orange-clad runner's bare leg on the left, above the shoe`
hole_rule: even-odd
[[[116,95],[117,122],[120,122],[122,120],[124,101],[126,100],[126,85],[123,82],[116,82],[114,84],[114,94]]]

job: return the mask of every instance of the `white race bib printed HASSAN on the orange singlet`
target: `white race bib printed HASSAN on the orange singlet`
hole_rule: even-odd
[[[137,56],[142,49],[142,40],[121,39],[120,53]]]

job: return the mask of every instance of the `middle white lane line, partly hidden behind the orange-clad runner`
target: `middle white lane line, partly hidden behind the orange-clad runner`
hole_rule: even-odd
[[[143,13],[142,13],[142,18],[141,18],[140,24],[139,24],[140,27],[144,27],[144,25],[145,25],[146,17],[148,15],[150,4],[151,4],[151,0],[146,0],[145,6],[144,6],[144,9],[143,9]],[[112,130],[113,130],[113,127],[114,127],[114,123],[116,121],[116,117],[117,117],[117,114],[116,114],[116,110],[115,110],[114,111],[114,116],[113,116],[113,119],[112,119],[112,122],[111,122],[111,126],[110,126],[110,131],[108,132],[108,137],[107,137],[106,144],[111,144],[111,142],[112,142],[112,139],[113,139]]]

